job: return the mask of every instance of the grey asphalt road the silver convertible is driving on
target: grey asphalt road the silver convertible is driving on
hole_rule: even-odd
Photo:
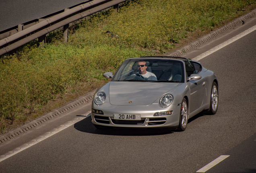
[[[185,54],[199,54],[256,25],[256,19]],[[96,129],[91,117],[0,162],[0,172],[194,173],[221,155],[227,159],[208,172],[256,172],[256,31],[201,59],[219,81],[219,109],[200,113],[184,132],[162,129]],[[90,105],[0,145],[0,155],[28,143],[75,117]],[[81,116],[78,116],[81,115]]]

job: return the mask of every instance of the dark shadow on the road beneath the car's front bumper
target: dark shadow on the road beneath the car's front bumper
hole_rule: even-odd
[[[74,128],[85,133],[93,133],[99,135],[116,135],[116,136],[152,136],[167,135],[173,133],[171,129],[151,129],[151,128],[102,128],[97,129],[91,123],[91,116],[74,124]]]

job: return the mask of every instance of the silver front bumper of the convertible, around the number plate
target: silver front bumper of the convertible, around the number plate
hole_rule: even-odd
[[[92,123],[109,127],[153,127],[176,128],[180,121],[180,105],[160,107],[159,104],[149,106],[119,106],[104,103],[97,106],[93,103],[92,109],[103,111],[103,115],[91,113]],[[153,116],[156,112],[173,111],[171,115]],[[140,114],[141,120],[116,120],[114,113]]]

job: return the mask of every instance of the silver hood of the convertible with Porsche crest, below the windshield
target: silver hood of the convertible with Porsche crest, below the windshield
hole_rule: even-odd
[[[109,101],[111,105],[147,106],[178,85],[167,82],[110,82]]]

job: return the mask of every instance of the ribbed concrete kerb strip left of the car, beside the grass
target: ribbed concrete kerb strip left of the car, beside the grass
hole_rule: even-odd
[[[85,103],[88,103],[91,99],[93,99],[94,93],[95,93],[95,91],[92,91],[90,93],[87,93],[86,95],[78,97],[78,99],[75,99],[75,100],[63,105],[62,107],[59,107],[58,109],[55,109],[54,111],[52,111],[50,113],[46,113],[45,115],[38,117],[37,119],[30,121],[30,122],[26,123],[25,125],[21,125],[20,127],[13,129],[12,131],[9,131],[7,133],[0,135],[0,142],[4,143],[14,137],[17,137],[21,133],[25,133],[26,131],[33,129],[37,125],[40,125],[46,121],[49,121],[54,117],[60,116],[62,113],[66,113],[66,111],[73,109],[74,107],[78,107]]]

